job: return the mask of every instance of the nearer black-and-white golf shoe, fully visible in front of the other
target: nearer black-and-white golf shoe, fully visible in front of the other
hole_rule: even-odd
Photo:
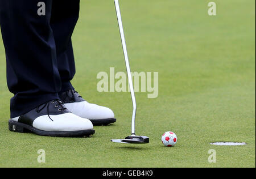
[[[9,130],[51,137],[84,137],[95,133],[92,122],[69,112],[60,100],[49,101],[9,120]]]

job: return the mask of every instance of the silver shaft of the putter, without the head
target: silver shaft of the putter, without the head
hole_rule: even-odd
[[[115,2],[115,11],[117,12],[119,31],[120,31],[122,45],[123,45],[123,54],[125,56],[125,65],[126,65],[126,71],[128,75],[129,87],[131,92],[131,100],[133,101],[133,116],[131,118],[131,135],[135,136],[135,116],[136,116],[137,106],[136,106],[136,100],[135,100],[135,94],[134,94],[134,88],[133,88],[133,79],[131,78],[131,70],[130,70],[129,58],[128,58],[126,42],[125,42],[125,33],[123,32],[123,24],[122,24],[122,17],[121,17],[119,2],[118,0],[114,0],[114,2]]]

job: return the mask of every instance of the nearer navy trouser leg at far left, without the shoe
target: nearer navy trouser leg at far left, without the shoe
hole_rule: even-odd
[[[11,118],[58,99],[61,80],[57,70],[55,42],[49,26],[51,1],[46,16],[38,15],[33,0],[0,0],[0,24],[6,50],[7,84]]]

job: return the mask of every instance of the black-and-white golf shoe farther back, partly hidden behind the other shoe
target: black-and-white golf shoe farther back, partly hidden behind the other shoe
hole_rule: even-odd
[[[88,103],[75,90],[59,93],[59,97],[69,111],[82,118],[88,118],[93,125],[108,125],[117,121],[111,109]]]

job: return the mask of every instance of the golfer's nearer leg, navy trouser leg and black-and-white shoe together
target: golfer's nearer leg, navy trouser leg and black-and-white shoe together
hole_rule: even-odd
[[[93,126],[70,113],[59,100],[61,78],[50,26],[52,0],[0,0],[0,24],[6,50],[7,84],[11,99],[9,129],[39,135],[93,134]],[[44,6],[45,5],[45,6]]]

